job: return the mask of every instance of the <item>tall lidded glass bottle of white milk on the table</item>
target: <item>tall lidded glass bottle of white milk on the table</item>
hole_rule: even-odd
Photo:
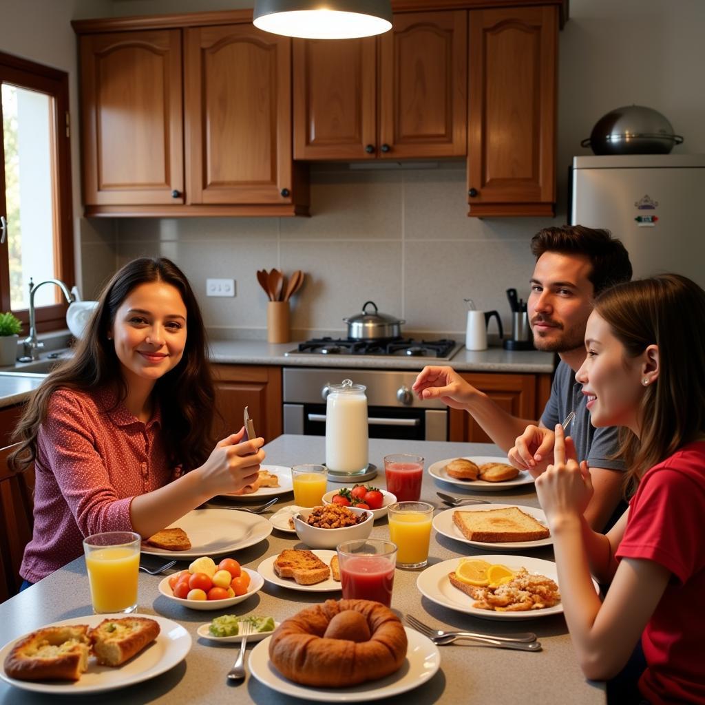
[[[367,471],[367,397],[350,379],[331,384],[326,398],[326,466],[329,472]]]

